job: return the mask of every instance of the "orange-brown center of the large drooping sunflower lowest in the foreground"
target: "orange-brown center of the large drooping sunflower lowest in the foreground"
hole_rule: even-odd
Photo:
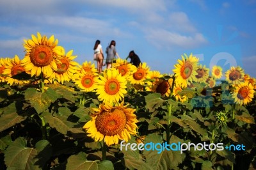
[[[97,116],[95,125],[100,134],[121,134],[126,125],[126,115],[120,109],[113,109],[109,112],[102,112],[102,114]]]

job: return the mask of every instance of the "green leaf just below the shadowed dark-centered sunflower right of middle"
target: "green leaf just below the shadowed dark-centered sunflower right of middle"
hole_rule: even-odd
[[[161,107],[161,105],[164,103],[160,93],[150,93],[149,95],[145,96],[145,101],[146,108],[150,112],[153,112],[158,107]]]

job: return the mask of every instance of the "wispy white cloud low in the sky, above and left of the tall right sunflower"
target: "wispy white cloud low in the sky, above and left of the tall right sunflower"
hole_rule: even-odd
[[[172,49],[173,47],[197,47],[198,45],[207,42],[204,36],[200,33],[187,36],[165,29],[148,29],[146,31],[146,38],[156,45],[156,47],[164,47],[167,49]]]

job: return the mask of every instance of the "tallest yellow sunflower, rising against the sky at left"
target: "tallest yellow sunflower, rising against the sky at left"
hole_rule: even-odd
[[[33,75],[39,76],[41,73],[44,73],[44,77],[50,77],[53,70],[58,70],[56,58],[62,54],[56,46],[58,40],[54,41],[53,35],[47,39],[46,36],[42,37],[40,33],[37,33],[37,38],[35,35],[31,36],[31,40],[24,40],[26,55],[21,61],[21,66],[24,66],[31,77]]]

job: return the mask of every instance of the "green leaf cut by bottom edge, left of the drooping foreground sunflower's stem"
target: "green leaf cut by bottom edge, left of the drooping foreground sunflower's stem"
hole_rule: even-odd
[[[86,160],[86,154],[79,152],[77,155],[71,155],[68,158],[66,170],[80,170],[88,169],[95,170],[98,169],[98,164],[95,161]]]

